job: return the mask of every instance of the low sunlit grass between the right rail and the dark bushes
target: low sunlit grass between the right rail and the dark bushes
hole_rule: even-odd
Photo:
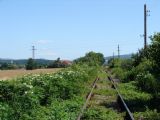
[[[118,89],[136,120],[159,120],[160,113],[155,109],[159,102],[154,104],[152,94],[139,91],[137,82],[121,83]]]

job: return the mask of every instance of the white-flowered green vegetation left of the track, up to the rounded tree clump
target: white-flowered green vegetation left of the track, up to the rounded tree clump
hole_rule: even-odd
[[[0,119],[75,120],[103,61],[102,54],[90,52],[55,74],[0,81]]]

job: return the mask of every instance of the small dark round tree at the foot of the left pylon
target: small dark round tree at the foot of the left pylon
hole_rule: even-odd
[[[26,70],[33,70],[36,68],[37,68],[37,64],[35,60],[33,60],[32,58],[29,58],[26,64]]]

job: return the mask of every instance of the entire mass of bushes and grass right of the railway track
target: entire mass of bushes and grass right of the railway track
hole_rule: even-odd
[[[160,33],[151,44],[131,59],[111,59],[109,69],[122,83],[118,85],[136,119],[160,119]]]

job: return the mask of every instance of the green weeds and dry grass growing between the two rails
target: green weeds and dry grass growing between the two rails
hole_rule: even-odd
[[[123,120],[125,113],[119,111],[117,94],[111,88],[110,81],[102,78],[96,85],[94,96],[89,102],[82,120]]]

